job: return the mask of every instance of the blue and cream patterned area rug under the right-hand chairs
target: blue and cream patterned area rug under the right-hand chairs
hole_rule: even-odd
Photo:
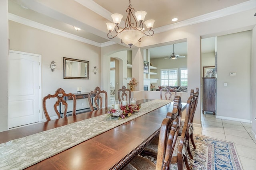
[[[202,135],[194,135],[194,141],[196,149],[190,143],[194,158],[188,156],[192,170],[242,170],[234,143]],[[148,156],[148,159],[156,163],[153,157]],[[184,169],[187,170],[185,164]],[[172,164],[170,170],[178,170],[177,164]]]

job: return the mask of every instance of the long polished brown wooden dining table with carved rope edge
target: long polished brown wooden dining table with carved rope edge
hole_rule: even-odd
[[[138,103],[149,100],[138,100]],[[186,103],[182,103],[183,110]],[[74,147],[46,158],[28,170],[118,170],[124,167],[134,156],[138,155],[160,131],[164,117],[171,112],[173,102],[150,111],[136,119],[110,129],[96,137],[88,139]],[[0,133],[0,143],[26,137],[61,127],[74,122],[89,119],[107,113],[99,109],[61,119],[37,123]]]

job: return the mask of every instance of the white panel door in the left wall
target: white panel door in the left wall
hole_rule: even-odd
[[[41,55],[10,51],[9,128],[40,121]]]

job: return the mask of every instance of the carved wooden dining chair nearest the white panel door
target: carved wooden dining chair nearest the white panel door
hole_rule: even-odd
[[[54,104],[54,111],[58,116],[58,119],[60,119],[62,113],[60,113],[58,111],[58,106],[60,106],[60,104],[65,106],[65,109],[63,111],[63,117],[67,116],[67,110],[68,110],[68,103],[66,102],[66,100],[64,100],[64,98],[72,98],[73,101],[73,108],[72,108],[72,115],[76,115],[76,95],[72,94],[72,93],[68,93],[66,94],[65,91],[62,88],[58,88],[55,92],[55,94],[51,95],[48,94],[47,96],[45,96],[43,98],[43,110],[44,110],[44,115],[46,118],[46,121],[50,121],[51,118],[48,114],[47,108],[46,108],[46,100],[50,99],[50,98],[56,98],[57,101]]]

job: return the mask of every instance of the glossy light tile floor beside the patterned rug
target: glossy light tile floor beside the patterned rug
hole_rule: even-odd
[[[201,120],[202,127],[194,127],[196,134],[233,142],[243,169],[256,170],[256,139],[251,123],[217,119],[210,113],[202,114]]]

